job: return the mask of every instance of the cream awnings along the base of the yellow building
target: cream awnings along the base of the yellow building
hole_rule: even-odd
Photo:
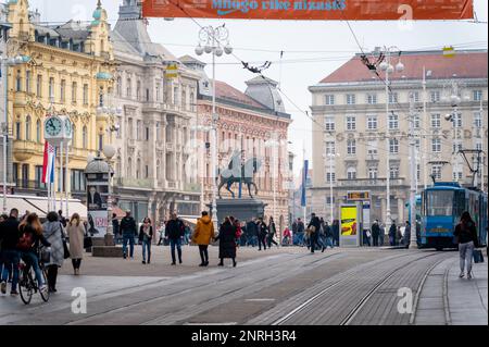
[[[7,196],[8,212],[16,208],[18,213],[23,215],[26,211],[37,213],[40,218],[46,218],[48,214],[48,198],[22,195]],[[61,200],[57,199],[57,209],[60,210]],[[63,200],[63,210],[65,209],[65,201]],[[73,213],[78,213],[82,219],[87,219],[87,207],[79,200],[68,199],[68,211],[63,211],[63,214],[71,216]],[[70,215],[68,215],[70,214]]]

